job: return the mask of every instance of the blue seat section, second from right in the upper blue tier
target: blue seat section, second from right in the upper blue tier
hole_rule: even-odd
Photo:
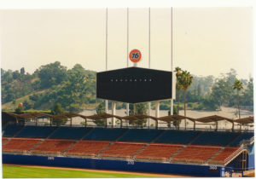
[[[203,132],[192,145],[225,146],[238,135],[235,132]]]

